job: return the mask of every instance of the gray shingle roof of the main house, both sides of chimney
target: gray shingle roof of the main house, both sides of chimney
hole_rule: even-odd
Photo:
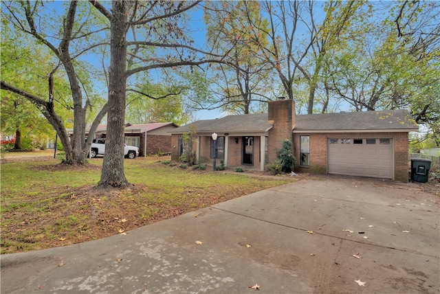
[[[199,120],[175,128],[170,133],[262,133],[272,128],[267,113],[228,115],[215,120]],[[418,131],[407,110],[362,111],[296,115],[298,131]]]

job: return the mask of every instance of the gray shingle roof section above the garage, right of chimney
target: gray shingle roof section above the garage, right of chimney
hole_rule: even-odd
[[[409,111],[361,111],[296,115],[294,131],[418,131]]]

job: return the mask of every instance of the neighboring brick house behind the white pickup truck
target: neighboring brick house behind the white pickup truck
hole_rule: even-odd
[[[159,152],[171,153],[170,131],[177,128],[173,122],[152,122],[148,124],[126,124],[125,144],[139,148],[139,156],[154,155]],[[72,131],[69,131],[71,134]],[[86,137],[89,130],[86,131]],[[95,137],[104,138],[107,126],[100,125],[96,129]]]

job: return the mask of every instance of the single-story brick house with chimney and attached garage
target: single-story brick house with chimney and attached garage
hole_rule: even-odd
[[[293,142],[295,170],[408,181],[408,133],[418,131],[406,110],[296,115],[293,100],[269,102],[268,113],[200,120],[172,131],[171,158],[184,152],[181,136],[193,133],[199,163],[265,170],[285,139]],[[217,133],[214,151],[212,133]],[[219,163],[217,163],[218,165]]]

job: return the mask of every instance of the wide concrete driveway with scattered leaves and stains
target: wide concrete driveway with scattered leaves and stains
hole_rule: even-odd
[[[311,176],[126,235],[1,256],[1,293],[440,293],[439,241],[439,197],[417,185]]]

